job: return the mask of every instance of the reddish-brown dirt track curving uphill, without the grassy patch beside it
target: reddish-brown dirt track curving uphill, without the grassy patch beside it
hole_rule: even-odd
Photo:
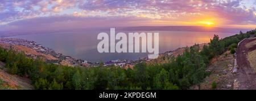
[[[251,90],[256,89],[256,72],[254,69],[250,66],[249,61],[247,60],[248,52],[250,52],[252,49],[248,49],[246,47],[246,44],[255,41],[254,39],[245,39],[243,40],[237,49],[237,65],[238,65],[238,71],[237,71],[237,82],[238,82],[238,89],[242,90]],[[256,47],[255,49],[256,50]]]

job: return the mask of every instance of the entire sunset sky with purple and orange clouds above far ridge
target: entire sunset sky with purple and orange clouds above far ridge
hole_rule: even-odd
[[[0,31],[185,25],[256,28],[256,0],[1,0]]]

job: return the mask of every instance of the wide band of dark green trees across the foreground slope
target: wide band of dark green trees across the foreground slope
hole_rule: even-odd
[[[214,35],[209,45],[187,47],[183,55],[166,64],[139,63],[134,69],[115,66],[95,68],[66,67],[47,64],[41,59],[26,58],[23,52],[0,49],[0,61],[11,74],[28,76],[35,89],[189,89],[199,84],[209,73],[209,60],[235,46],[250,33],[220,39]]]

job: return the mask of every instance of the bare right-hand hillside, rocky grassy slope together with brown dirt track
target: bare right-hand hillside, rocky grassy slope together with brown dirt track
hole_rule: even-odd
[[[210,75],[200,85],[191,89],[246,90],[256,89],[256,38],[240,42],[237,56],[230,51],[211,60],[207,71]],[[237,65],[235,59],[237,58]]]

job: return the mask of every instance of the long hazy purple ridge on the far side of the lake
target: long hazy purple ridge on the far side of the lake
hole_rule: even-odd
[[[200,27],[200,26],[141,26],[141,27],[113,27],[116,30],[127,31],[148,31],[148,30],[166,30],[166,31],[189,31],[189,32],[225,32],[225,33],[239,33],[247,32],[248,29],[236,29],[236,28],[220,28],[220,27]],[[77,29],[63,29],[63,30],[9,30],[0,31],[0,37],[20,36],[27,34],[43,34],[43,33],[55,33],[55,32],[82,32],[89,30],[104,31],[110,30],[108,28],[77,28]]]

